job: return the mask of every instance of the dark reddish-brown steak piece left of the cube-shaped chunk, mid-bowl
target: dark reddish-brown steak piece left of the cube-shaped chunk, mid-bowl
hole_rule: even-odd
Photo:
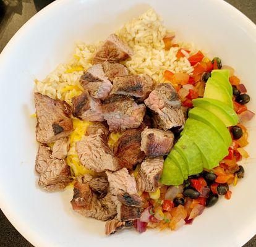
[[[123,135],[114,143],[114,156],[119,159],[121,167],[132,170],[134,165],[141,163],[145,158],[145,153],[141,150],[142,130],[126,130]]]

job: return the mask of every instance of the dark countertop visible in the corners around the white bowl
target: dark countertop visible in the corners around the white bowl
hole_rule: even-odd
[[[226,0],[256,23],[256,0]],[[17,30],[53,0],[0,0],[0,52]],[[235,223],[234,223],[235,224]],[[256,236],[244,247],[255,247]],[[0,210],[0,247],[33,247]]]

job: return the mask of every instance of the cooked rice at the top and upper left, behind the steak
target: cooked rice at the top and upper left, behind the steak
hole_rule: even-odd
[[[174,73],[193,72],[193,67],[190,66],[187,58],[182,57],[177,61],[176,53],[179,47],[190,49],[190,51],[194,48],[190,44],[178,43],[179,47],[166,51],[163,38],[167,33],[161,18],[153,9],[127,22],[121,30],[117,31],[116,34],[135,52],[131,59],[124,62],[130,73],[146,73],[159,83],[164,82],[164,70]],[[74,96],[82,93],[83,88],[80,86],[79,78],[83,70],[92,66],[93,53],[98,45],[77,43],[72,61],[69,64],[60,64],[45,80],[36,80],[36,90],[70,104]]]

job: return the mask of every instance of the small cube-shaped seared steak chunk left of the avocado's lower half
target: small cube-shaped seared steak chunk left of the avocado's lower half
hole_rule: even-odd
[[[172,132],[145,128],[142,132],[142,146],[146,156],[164,156],[173,148],[174,135]]]

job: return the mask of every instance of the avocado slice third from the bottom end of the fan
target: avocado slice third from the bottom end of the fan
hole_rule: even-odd
[[[187,135],[182,135],[174,145],[174,148],[181,154],[189,167],[189,176],[199,174],[203,170],[203,160],[200,150]]]

